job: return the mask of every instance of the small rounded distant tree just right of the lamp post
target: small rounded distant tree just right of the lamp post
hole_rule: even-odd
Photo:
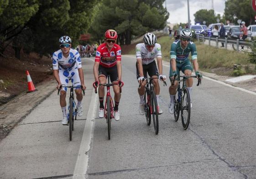
[[[209,26],[209,24],[216,23],[216,16],[214,15],[214,10],[206,10],[201,9],[198,10],[195,14],[195,22],[203,24],[203,22],[206,22],[206,25]]]

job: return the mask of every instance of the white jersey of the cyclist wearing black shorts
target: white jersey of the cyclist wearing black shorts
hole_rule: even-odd
[[[150,52],[146,50],[144,43],[136,45],[136,58],[142,59],[142,65],[147,65],[155,60],[156,57],[162,58],[161,45],[156,43],[153,50]]]

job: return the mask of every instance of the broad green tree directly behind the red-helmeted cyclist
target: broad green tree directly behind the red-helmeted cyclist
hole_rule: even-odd
[[[163,1],[103,0],[89,31],[103,39],[107,29],[115,29],[120,44],[131,44],[131,36],[165,26],[169,14],[162,6]]]

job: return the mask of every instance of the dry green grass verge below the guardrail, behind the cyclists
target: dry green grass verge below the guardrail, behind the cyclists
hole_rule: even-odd
[[[170,38],[169,36],[157,38],[157,43],[161,45],[162,57],[164,61],[170,61],[170,48],[173,41],[174,38]],[[248,60],[248,53],[215,48],[213,46],[200,44],[197,41],[195,41],[195,44],[198,52],[198,63],[200,70],[230,76],[256,73],[255,65],[251,64]],[[135,50],[133,50],[131,54],[135,54]],[[238,71],[233,70],[233,66],[235,64],[241,65],[241,68],[238,69]]]

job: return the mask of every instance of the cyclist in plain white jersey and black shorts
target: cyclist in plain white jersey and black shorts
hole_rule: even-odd
[[[152,33],[146,33],[143,38],[144,43],[140,43],[136,45],[136,71],[137,71],[137,80],[140,83],[141,87],[138,88],[138,93],[140,96],[140,106],[139,113],[144,115],[144,94],[145,94],[145,85],[146,73],[150,77],[162,77],[163,80],[166,79],[165,75],[162,75],[162,52],[161,46],[157,42],[157,37]],[[157,58],[157,65],[155,58]],[[157,70],[157,66],[159,69],[159,73]],[[157,96],[157,103],[159,106],[159,93],[160,87],[158,83],[158,79],[153,79],[154,91]],[[162,109],[159,107],[158,113],[162,114]]]

